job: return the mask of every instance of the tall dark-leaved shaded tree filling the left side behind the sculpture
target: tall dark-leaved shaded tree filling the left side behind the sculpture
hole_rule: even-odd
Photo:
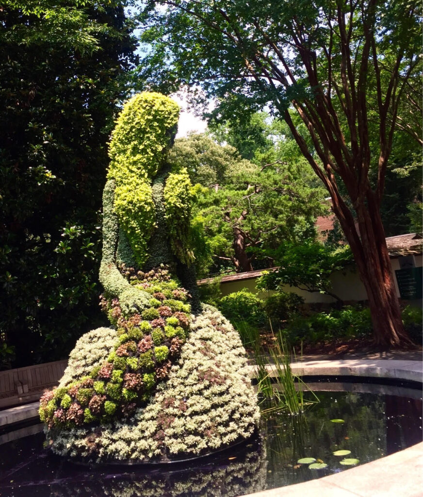
[[[106,143],[135,42],[122,2],[7,0],[0,18],[0,341],[21,366],[102,321]]]

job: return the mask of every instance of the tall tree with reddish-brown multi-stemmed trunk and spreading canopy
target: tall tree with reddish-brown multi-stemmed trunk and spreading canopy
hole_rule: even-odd
[[[161,76],[201,83],[206,95],[220,99],[218,118],[267,105],[285,120],[332,198],[367,291],[375,342],[410,343],[380,203],[394,134],[408,129],[403,112],[416,107],[421,87],[418,2],[400,0],[389,8],[378,0],[158,3],[141,38],[154,45],[141,74],[154,74],[157,84]]]

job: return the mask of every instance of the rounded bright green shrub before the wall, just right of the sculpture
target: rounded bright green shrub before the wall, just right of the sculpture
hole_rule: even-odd
[[[217,307],[233,323],[246,321],[253,326],[263,326],[267,322],[263,300],[246,288],[222,297]]]

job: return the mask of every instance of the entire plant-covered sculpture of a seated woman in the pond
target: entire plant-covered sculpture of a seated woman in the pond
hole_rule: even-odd
[[[104,188],[102,306],[114,328],[83,335],[40,416],[54,452],[96,462],[195,457],[248,438],[256,398],[238,334],[198,301],[191,183],[166,162],[179,107],[124,106]]]

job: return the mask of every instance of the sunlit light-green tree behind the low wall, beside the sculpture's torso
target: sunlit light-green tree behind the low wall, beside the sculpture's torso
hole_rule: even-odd
[[[186,166],[198,183],[194,227],[204,230],[214,263],[228,261],[236,272],[253,270],[254,261],[270,267],[268,251],[282,240],[314,236],[315,217],[324,210],[322,191],[309,187],[294,166],[277,161],[261,167],[196,134],[176,140],[170,160]],[[200,256],[200,274],[212,261]]]

